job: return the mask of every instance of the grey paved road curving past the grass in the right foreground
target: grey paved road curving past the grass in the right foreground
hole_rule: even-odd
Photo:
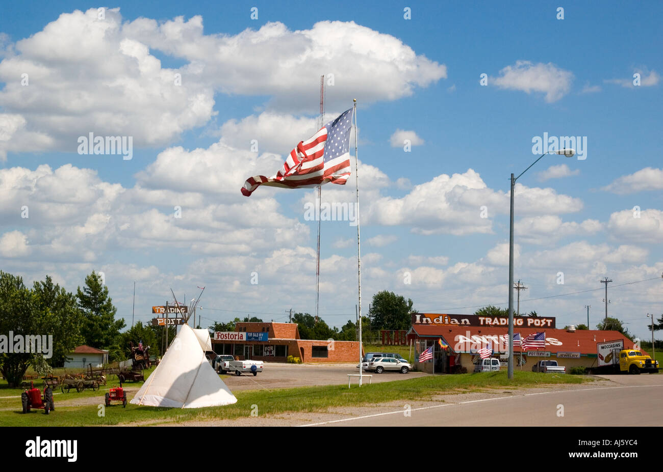
[[[661,426],[663,375],[603,375],[601,387],[444,402],[322,426]],[[563,414],[563,416],[562,416]],[[314,426],[314,425],[310,425]]]

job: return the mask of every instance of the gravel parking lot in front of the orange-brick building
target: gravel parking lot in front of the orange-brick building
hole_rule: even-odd
[[[358,374],[357,363],[343,364],[284,364],[265,363],[265,369],[255,377],[251,374],[222,374],[221,380],[231,391],[259,389],[289,389],[306,385],[347,385],[347,374]],[[389,382],[394,380],[412,379],[422,375],[420,372],[385,372],[376,374],[365,373],[373,377],[365,378],[364,383]],[[358,377],[352,377],[353,385],[359,383]]]

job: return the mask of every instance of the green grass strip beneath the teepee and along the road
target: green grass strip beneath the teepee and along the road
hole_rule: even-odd
[[[147,375],[146,375],[147,377]],[[491,372],[462,375],[439,375],[416,377],[407,380],[364,385],[361,389],[354,386],[348,389],[343,385],[323,387],[301,387],[296,389],[276,389],[273,391],[239,391],[235,393],[237,403],[213,408],[156,408],[127,404],[105,408],[105,416],[99,404],[103,404],[104,390],[86,391],[78,394],[56,395],[56,410],[44,415],[41,410],[21,414],[21,400],[0,399],[0,426],[87,426],[113,424],[156,424],[160,422],[183,422],[187,420],[206,420],[210,418],[233,419],[251,416],[251,411],[258,408],[259,416],[281,412],[326,411],[334,406],[353,406],[375,404],[398,400],[416,401],[430,399],[440,393],[476,391],[477,389],[518,388],[536,385],[568,384],[589,382],[589,377],[581,375],[541,375],[532,372],[514,373],[514,379],[507,379],[507,372]],[[112,384],[105,387],[108,389]],[[127,384],[137,385],[140,383]],[[17,389],[11,389],[16,391]],[[0,389],[0,396],[9,389]],[[20,391],[19,391],[20,395]],[[88,402],[82,406],[58,406],[58,401],[74,395],[97,397],[99,402]],[[129,399],[133,395],[129,395]]]

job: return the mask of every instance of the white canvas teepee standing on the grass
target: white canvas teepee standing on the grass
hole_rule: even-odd
[[[237,402],[205,357],[211,351],[208,330],[182,324],[154,372],[131,400],[133,404],[202,408]]]

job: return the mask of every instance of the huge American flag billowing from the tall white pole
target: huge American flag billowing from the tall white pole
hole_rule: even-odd
[[[241,188],[249,197],[259,185],[271,187],[314,187],[323,183],[345,185],[350,176],[350,128],[353,109],[328,122],[306,141],[290,151],[283,167],[273,177],[249,177]]]

